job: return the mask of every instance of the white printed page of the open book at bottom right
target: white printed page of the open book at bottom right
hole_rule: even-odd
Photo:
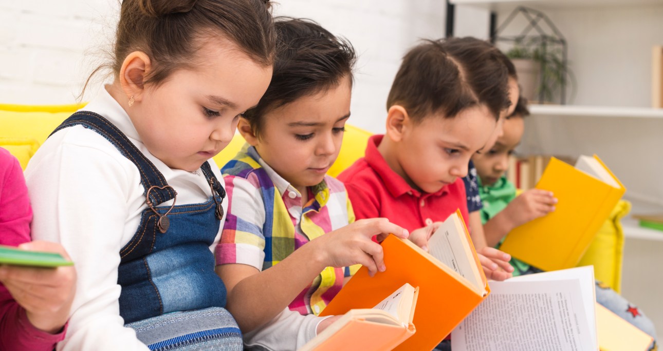
[[[453,351],[594,351],[577,279],[491,281],[452,332]]]

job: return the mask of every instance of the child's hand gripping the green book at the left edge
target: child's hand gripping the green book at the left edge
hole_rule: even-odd
[[[21,244],[24,250],[58,252],[69,255],[55,242],[34,241]],[[69,318],[76,292],[74,267],[31,268],[0,266],[0,281],[26,311],[35,328],[55,334]]]

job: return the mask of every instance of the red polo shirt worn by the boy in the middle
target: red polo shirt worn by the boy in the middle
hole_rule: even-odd
[[[469,226],[463,179],[458,178],[432,194],[412,189],[405,179],[389,168],[377,150],[382,138],[383,135],[371,136],[366,156],[338,176],[345,183],[355,217],[385,217],[412,232],[430,223],[444,221],[460,209],[465,225]]]

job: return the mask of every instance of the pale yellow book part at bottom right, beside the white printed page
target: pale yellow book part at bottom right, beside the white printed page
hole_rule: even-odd
[[[654,338],[622,317],[596,304],[596,329],[601,351],[645,351]]]

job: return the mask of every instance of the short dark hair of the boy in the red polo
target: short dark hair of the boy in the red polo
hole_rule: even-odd
[[[497,120],[510,105],[505,58],[495,46],[476,38],[425,40],[404,56],[387,109],[401,105],[418,122],[432,113],[452,118],[485,105]]]

